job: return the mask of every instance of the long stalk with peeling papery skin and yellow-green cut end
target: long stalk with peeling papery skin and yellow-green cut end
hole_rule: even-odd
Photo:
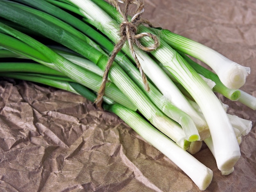
[[[46,7],[46,9],[44,9],[45,12],[50,13],[53,16],[56,16],[56,17],[60,18],[61,20],[69,23],[70,25],[74,26],[75,28],[79,29],[80,31],[83,31],[85,34],[88,34],[91,38],[96,40],[97,43],[99,43],[99,45],[103,46],[109,52],[112,51],[113,45],[111,42],[108,41],[108,39],[106,37],[102,36],[101,34],[99,34],[97,31],[92,29],[90,26],[86,25],[81,20],[66,13],[65,11],[59,9],[58,7],[55,7],[52,4],[49,4],[44,1],[36,2],[36,1],[20,0],[20,2],[25,2],[26,4],[32,5],[33,7],[36,7],[37,9],[41,9],[41,7]],[[67,7],[67,6],[63,6],[63,7]],[[74,10],[74,9],[70,8],[70,10]],[[77,11],[76,11],[76,13],[77,13]],[[77,60],[77,58],[72,60],[72,62],[74,63],[76,60]],[[139,71],[137,71],[137,69],[130,62],[130,60],[128,60],[128,58],[126,58],[126,56],[124,54],[119,53],[117,55],[117,61],[118,61],[119,65],[132,78],[132,80],[134,80],[139,85],[139,87],[142,89],[143,82],[138,81],[138,80],[140,80]],[[159,106],[159,108],[164,112],[164,114],[166,114],[168,117],[172,118],[173,120],[177,121],[182,126],[182,128],[184,128],[186,130],[185,133],[186,133],[187,140],[188,141],[199,140],[200,136],[198,135],[198,131],[197,131],[193,121],[191,120],[191,118],[184,112],[180,111],[177,107],[172,105],[170,102],[168,102],[168,100],[166,100],[165,97],[162,97],[160,95],[160,93],[153,87],[152,84],[150,85],[150,87],[151,87],[151,91],[146,94],[150,97],[151,100],[153,100],[155,105]],[[182,103],[182,102],[180,102],[180,103]],[[183,117],[180,118],[180,116],[183,116]]]

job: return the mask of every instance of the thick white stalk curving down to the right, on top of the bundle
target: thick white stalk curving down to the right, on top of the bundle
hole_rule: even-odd
[[[88,16],[89,19],[94,20],[94,22],[99,22],[95,17],[99,19],[108,16],[108,14],[101,15],[101,11],[98,10],[97,5],[93,4],[90,0],[72,0],[72,2],[78,7],[81,7],[83,11],[91,11],[88,9],[95,10],[97,14],[93,14],[93,12],[91,12],[91,14],[86,14],[86,16]],[[105,10],[107,9],[107,7],[104,8],[103,6],[101,6],[101,8]],[[109,14],[117,13],[114,13],[112,10],[111,12],[112,13],[109,12]],[[92,17],[94,18],[92,19]],[[122,20],[121,16],[119,17],[119,20]],[[111,20],[111,18],[110,21],[108,23],[112,23],[113,26],[115,21]],[[108,32],[115,28],[112,27],[110,29],[110,27],[106,27],[106,22],[101,23],[101,25],[104,25],[104,28],[107,28]],[[151,32],[143,26],[139,27],[139,31]],[[144,43],[144,46],[150,46],[150,40],[147,38],[144,38],[141,41]],[[139,58],[140,52],[137,51],[137,54]],[[202,80],[198,73],[190,67],[186,60],[177,54],[177,52],[164,41],[161,41],[161,46],[150,54],[159,60],[159,62],[162,63],[173,76],[175,76],[198,103],[209,126],[218,169],[221,171],[230,170],[240,158],[240,148],[234,134],[234,129],[216,95],[209,89],[208,85]],[[209,110],[209,108],[211,110]]]

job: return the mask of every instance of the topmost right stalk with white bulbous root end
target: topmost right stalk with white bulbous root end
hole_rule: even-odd
[[[229,60],[217,51],[198,42],[162,29],[159,33],[162,39],[173,48],[193,56],[209,65],[216,72],[221,82],[230,89],[239,89],[245,84],[250,68]]]

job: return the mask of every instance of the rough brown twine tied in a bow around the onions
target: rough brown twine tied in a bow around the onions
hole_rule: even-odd
[[[101,109],[101,104],[103,102],[103,95],[105,92],[106,83],[108,82],[108,73],[110,71],[111,65],[114,62],[117,53],[122,49],[122,47],[126,43],[126,40],[130,47],[130,51],[132,52],[132,56],[135,60],[137,68],[140,71],[141,78],[144,83],[144,88],[147,92],[150,91],[150,88],[147,83],[147,78],[146,78],[146,75],[144,74],[143,69],[141,68],[141,65],[136,56],[136,52],[135,52],[135,49],[133,46],[135,44],[139,49],[142,49],[143,51],[147,51],[147,52],[154,51],[159,46],[159,41],[157,40],[157,37],[155,35],[153,35],[152,33],[137,34],[137,26],[139,24],[146,23],[146,24],[150,25],[150,22],[148,22],[147,20],[142,20],[142,21],[140,20],[142,14],[144,13],[144,2],[142,0],[110,0],[110,2],[117,9],[117,11],[119,11],[119,13],[123,16],[124,20],[120,25],[120,30],[119,30],[120,39],[115,44],[112,54],[110,55],[110,58],[108,59],[108,63],[106,65],[106,68],[105,68],[105,71],[103,74],[101,87],[98,91],[97,99],[95,100],[97,107],[99,107],[100,109]],[[124,11],[122,11],[121,8],[119,7],[119,3],[124,3]],[[135,4],[137,6],[137,9],[135,11],[135,15],[129,21],[128,20],[128,10],[129,10],[130,4]],[[152,38],[152,40],[154,41],[153,45],[151,45],[150,47],[145,47],[145,46],[141,45],[141,42],[139,41],[139,39],[143,38],[143,37]]]

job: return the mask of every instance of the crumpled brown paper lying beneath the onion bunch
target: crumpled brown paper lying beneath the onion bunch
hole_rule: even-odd
[[[145,0],[144,18],[251,67],[242,89],[256,96],[255,1]],[[206,191],[253,192],[256,113],[220,98],[230,106],[231,114],[250,119],[253,128],[243,137],[242,156],[229,176],[220,174],[207,147],[195,155],[213,170]],[[116,115],[101,112],[69,92],[1,78],[0,191],[200,190]]]

